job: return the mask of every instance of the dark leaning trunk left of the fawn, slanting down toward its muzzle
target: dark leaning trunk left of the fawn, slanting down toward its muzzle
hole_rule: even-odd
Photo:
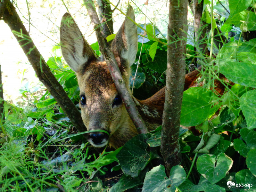
[[[31,40],[28,31],[21,22],[15,7],[10,1],[8,1],[7,6],[8,9],[5,9],[4,11],[3,20],[13,31],[13,35],[19,42],[30,64],[34,68],[37,77],[57,101],[76,129],[80,132],[86,131],[80,112],[70,100],[61,84],[56,80],[42,55],[37,50],[37,47]]]

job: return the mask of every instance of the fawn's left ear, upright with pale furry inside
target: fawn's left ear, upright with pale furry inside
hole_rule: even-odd
[[[60,28],[62,55],[69,67],[79,73],[95,54],[69,13],[62,16]]]

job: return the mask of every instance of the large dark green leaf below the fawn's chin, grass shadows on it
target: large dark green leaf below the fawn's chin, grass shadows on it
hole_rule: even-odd
[[[139,172],[149,163],[150,154],[146,150],[147,144],[144,142],[144,134],[136,135],[123,146],[117,154],[117,159],[124,173],[136,177]]]

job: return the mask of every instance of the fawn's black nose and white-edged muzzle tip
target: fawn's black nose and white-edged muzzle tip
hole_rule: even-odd
[[[103,147],[108,143],[109,136],[104,132],[89,133],[88,140],[94,147]]]

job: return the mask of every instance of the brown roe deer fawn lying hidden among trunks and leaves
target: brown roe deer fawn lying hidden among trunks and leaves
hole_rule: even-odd
[[[131,6],[127,10],[127,16],[135,20]],[[104,132],[91,132],[88,134],[89,142],[95,147],[103,147],[108,143],[114,148],[123,146],[138,134],[137,129],[122,103],[106,62],[102,57],[95,56],[69,13],[62,17],[60,41],[63,57],[77,75],[81,114],[87,130],[105,130],[110,134],[109,137]],[[137,53],[137,28],[128,18],[125,18],[116,34],[111,49],[127,89],[130,90],[130,66]],[[184,90],[198,86],[195,81],[199,73],[199,70],[195,70],[186,75]],[[224,86],[218,92],[223,93],[223,90]],[[134,97],[133,100],[150,131],[162,124],[165,88],[146,100]]]

